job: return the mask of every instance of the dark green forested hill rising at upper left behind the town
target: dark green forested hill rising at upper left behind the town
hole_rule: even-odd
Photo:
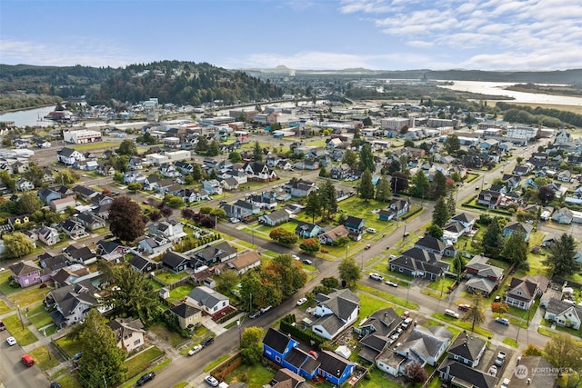
[[[0,94],[57,95],[63,99],[85,95],[89,104],[110,104],[112,100],[130,103],[157,97],[159,102],[202,104],[223,100],[258,101],[276,98],[283,91],[268,80],[241,71],[226,70],[206,63],[163,61],[125,68],[88,66],[0,65]],[[0,106],[16,109],[23,106]]]

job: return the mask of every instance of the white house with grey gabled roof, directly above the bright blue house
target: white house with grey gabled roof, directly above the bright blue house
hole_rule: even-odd
[[[352,323],[359,313],[359,297],[348,289],[335,290],[332,293],[316,295],[316,320],[311,324],[311,331],[328,340],[336,338]]]

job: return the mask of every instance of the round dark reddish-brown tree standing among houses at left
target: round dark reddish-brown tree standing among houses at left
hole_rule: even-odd
[[[127,196],[118,196],[109,209],[109,230],[123,241],[134,241],[144,234],[146,223],[139,204]]]

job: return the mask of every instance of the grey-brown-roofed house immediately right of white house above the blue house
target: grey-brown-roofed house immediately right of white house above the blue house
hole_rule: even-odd
[[[357,353],[359,358],[366,363],[376,363],[378,356],[394,343],[390,336],[396,333],[400,323],[402,323],[400,315],[388,307],[367,316],[362,323],[354,327],[354,332],[360,337],[360,352]],[[378,368],[380,367],[378,365]]]

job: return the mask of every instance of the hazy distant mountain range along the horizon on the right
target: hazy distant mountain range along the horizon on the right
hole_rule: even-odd
[[[486,71],[486,70],[370,70],[365,68],[347,68],[341,70],[300,70],[290,69],[286,65],[275,68],[238,69],[256,77],[265,76],[312,76],[312,75],[367,75],[375,78],[422,79],[446,81],[484,81],[505,83],[533,84],[580,84],[582,69],[554,71]]]

